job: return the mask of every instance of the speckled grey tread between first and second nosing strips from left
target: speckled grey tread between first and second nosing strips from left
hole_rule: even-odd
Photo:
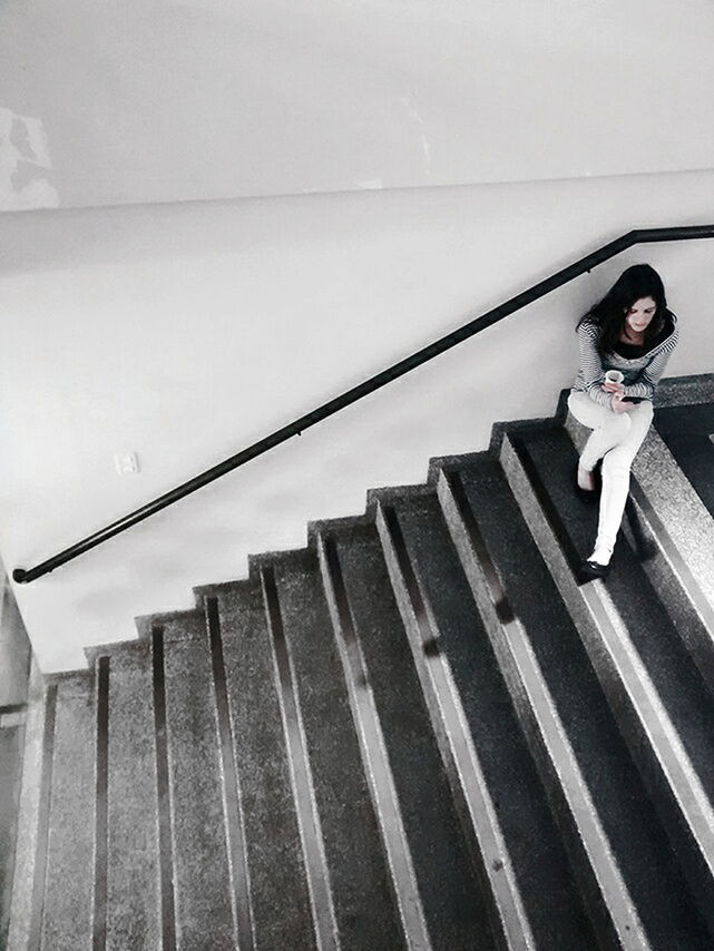
[[[40,947],[84,951],[92,944],[94,684],[87,671],[62,676],[55,684],[57,697]]]

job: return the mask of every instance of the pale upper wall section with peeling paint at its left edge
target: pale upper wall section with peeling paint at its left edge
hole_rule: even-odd
[[[711,168],[711,0],[12,0],[0,209]]]

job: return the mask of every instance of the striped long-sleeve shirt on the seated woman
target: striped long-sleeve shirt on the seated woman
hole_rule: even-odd
[[[586,321],[578,327],[578,346],[580,351],[580,369],[573,384],[574,390],[580,390],[596,403],[610,406],[613,394],[600,389],[608,370],[619,370],[625,385],[625,399],[637,396],[652,400],[657,388],[659,378],[664,373],[667,361],[679,340],[679,331],[676,326],[674,314],[668,322],[669,333],[659,341],[652,350],[642,356],[628,360],[619,353],[608,352],[600,355],[597,349],[599,327],[595,323]]]

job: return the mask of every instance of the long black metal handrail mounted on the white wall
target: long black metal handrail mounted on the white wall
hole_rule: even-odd
[[[131,526],[137,524],[137,522],[144,521],[144,519],[159,512],[167,506],[177,502],[179,499],[189,496],[197,489],[202,489],[209,482],[219,479],[222,476],[225,476],[226,472],[232,472],[239,465],[250,462],[250,460],[255,459],[256,455],[262,455],[274,445],[280,445],[281,442],[285,442],[285,440],[293,435],[300,435],[304,430],[310,429],[310,427],[315,425],[315,423],[321,422],[326,419],[326,416],[331,416],[333,413],[336,413],[345,406],[349,406],[351,403],[356,402],[356,400],[362,399],[362,396],[366,396],[368,393],[373,393],[381,386],[385,386],[388,383],[391,383],[392,380],[403,376],[403,374],[409,373],[410,370],[421,366],[421,364],[426,363],[428,360],[432,360],[440,353],[444,353],[444,351],[450,350],[458,343],[461,343],[462,341],[468,340],[468,337],[486,330],[486,327],[490,327],[491,324],[502,321],[503,317],[509,316],[515,311],[519,311],[521,307],[531,304],[539,297],[561,287],[564,284],[567,284],[575,277],[579,277],[587,271],[591,271],[591,268],[597,264],[608,261],[610,257],[614,257],[616,254],[620,254],[623,251],[626,251],[635,244],[663,241],[692,241],[696,238],[711,237],[714,237],[714,225],[688,225],[672,228],[640,228],[628,232],[622,237],[609,242],[609,244],[603,245],[603,247],[598,247],[596,251],[590,252],[590,254],[586,254],[585,257],[581,257],[574,264],[569,264],[567,267],[556,272],[550,277],[546,277],[545,281],[534,284],[532,287],[529,287],[521,294],[517,294],[509,301],[499,304],[498,307],[493,307],[493,310],[475,317],[472,321],[469,321],[468,324],[464,324],[458,330],[442,336],[434,343],[430,343],[428,346],[412,353],[411,356],[400,360],[399,363],[394,363],[389,369],[371,376],[369,380],[365,380],[364,383],[353,386],[340,396],[335,396],[334,400],[323,403],[316,410],[305,413],[305,415],[300,416],[300,419],[288,425],[285,425],[264,439],[254,442],[253,445],[237,452],[235,455],[232,455],[224,462],[214,465],[212,469],[207,469],[205,472],[202,472],[200,476],[189,479],[188,482],[184,482],[176,489],[172,489],[170,492],[166,492],[164,496],[160,496],[158,499],[154,499],[154,501],[148,502],[140,509],[130,512],[128,516],[125,516],[118,521],[102,528],[100,531],[88,536],[76,545],[72,545],[70,548],[66,548],[52,558],[48,558],[47,561],[42,561],[40,565],[36,565],[35,568],[29,568],[27,570],[25,568],[16,568],[12,572],[12,578],[19,584],[27,584],[28,581],[33,581],[36,578],[40,578],[42,575],[53,571],[55,568],[59,568],[60,565],[65,565],[72,558],[84,555],[85,551],[89,551],[89,549],[95,548],[97,545],[101,545],[101,542],[107,541],[115,535],[118,535],[128,528],[131,528]]]

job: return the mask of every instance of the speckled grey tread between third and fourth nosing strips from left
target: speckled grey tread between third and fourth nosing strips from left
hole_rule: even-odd
[[[168,788],[159,784],[159,808],[170,810],[176,948],[231,951],[235,927],[213,665],[198,611],[154,629],[154,677],[166,709]]]

